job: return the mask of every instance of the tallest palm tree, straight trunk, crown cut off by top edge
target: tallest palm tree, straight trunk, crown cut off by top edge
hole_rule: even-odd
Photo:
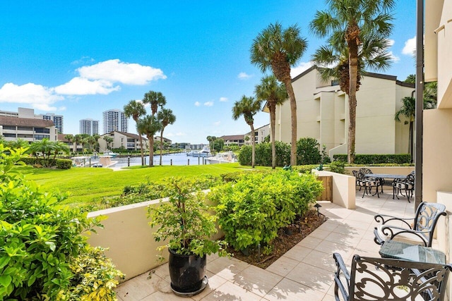
[[[349,125],[348,162],[355,161],[356,92],[359,88],[359,51],[367,49],[371,40],[381,40],[391,35],[395,6],[394,0],[326,0],[327,11],[317,11],[310,30],[318,37],[328,37],[328,44],[345,54],[340,59],[342,68],[348,72]],[[386,42],[387,43],[387,42]],[[384,48],[384,47],[383,47]],[[347,49],[347,51],[343,51]],[[387,59],[387,58],[386,58]],[[383,61],[384,61],[383,56]],[[345,75],[345,73],[342,73]],[[345,79],[343,79],[345,80]],[[342,89],[342,87],[341,87]],[[348,91],[348,92],[347,92]]]

